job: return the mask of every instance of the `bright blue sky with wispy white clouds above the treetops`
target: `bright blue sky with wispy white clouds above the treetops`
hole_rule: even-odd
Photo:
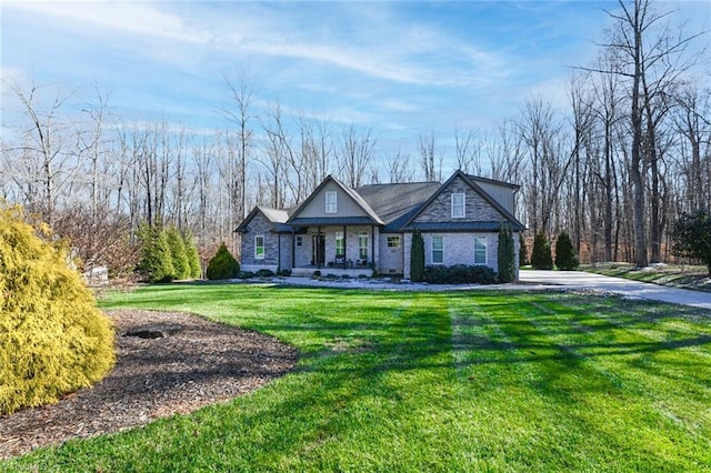
[[[381,142],[493,129],[528,97],[565,103],[592,61],[610,1],[2,1],[4,81],[110,94],[126,119],[206,132],[228,123],[224,77],[262,102],[370,129]],[[689,31],[711,2],[675,1]],[[3,117],[12,101],[4,97]]]

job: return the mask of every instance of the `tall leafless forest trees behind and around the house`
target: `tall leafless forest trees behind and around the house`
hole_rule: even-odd
[[[118,270],[141,222],[191,233],[204,259],[222,241],[237,249],[233,229],[257,203],[291,205],[328,174],[351,187],[439,180],[453,171],[447,158],[521,184],[529,236],[567,230],[582,262],[668,261],[673,221],[711,208],[709,34],[647,0],[614,11],[597,60],[571,68],[564,109],[530,97],[492,129],[423,132],[412,153],[368,128],[263,105],[244,77],[226,79],[224,125],[212,133],[129,121],[100,85],[3,83],[18,108],[3,110],[0,197],[70,238],[87,265]]]

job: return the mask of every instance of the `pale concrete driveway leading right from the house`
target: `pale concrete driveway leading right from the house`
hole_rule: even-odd
[[[570,289],[595,289],[612,292],[627,298],[648,299],[711,310],[711,292],[689,291],[667,288],[647,282],[629,281],[621,278],[585,273],[582,271],[540,271],[525,270],[519,273],[519,280],[525,284],[540,286],[560,286]]]

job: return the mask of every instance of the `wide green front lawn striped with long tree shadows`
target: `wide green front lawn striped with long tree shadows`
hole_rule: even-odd
[[[159,285],[299,365],[227,404],[6,464],[39,471],[703,471],[711,313],[617,298]]]

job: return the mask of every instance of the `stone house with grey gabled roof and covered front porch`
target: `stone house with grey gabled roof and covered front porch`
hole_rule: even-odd
[[[498,271],[498,238],[514,217],[519,187],[455,171],[444,183],[370,184],[351,189],[329,175],[293,209],[256,207],[239,224],[244,271],[289,269],[294,275],[410,276],[412,231],[422,232],[425,264],[483,264]],[[517,264],[518,266],[518,264]]]

